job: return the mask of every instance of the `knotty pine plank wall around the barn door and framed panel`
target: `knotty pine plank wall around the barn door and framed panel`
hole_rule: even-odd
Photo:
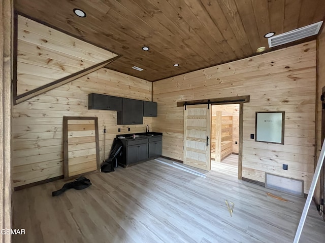
[[[178,101],[250,95],[244,103],[243,177],[265,172],[302,179],[308,192],[314,171],[316,41],[226,63],[153,84],[163,132],[163,155],[183,159],[183,107]],[[255,142],[256,111],[285,111],[284,145]],[[288,170],[282,170],[282,164]]]

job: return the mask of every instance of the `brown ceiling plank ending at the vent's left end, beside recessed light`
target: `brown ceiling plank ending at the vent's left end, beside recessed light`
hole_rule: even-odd
[[[283,33],[285,0],[269,0],[270,29],[275,34]]]

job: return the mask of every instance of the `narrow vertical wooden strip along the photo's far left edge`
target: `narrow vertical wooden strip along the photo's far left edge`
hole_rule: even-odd
[[[11,190],[11,79],[13,1],[0,1],[0,229],[12,228]],[[1,234],[0,243],[10,243]]]

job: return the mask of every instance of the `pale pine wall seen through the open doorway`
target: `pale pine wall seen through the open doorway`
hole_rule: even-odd
[[[239,144],[239,104],[230,105],[213,105],[212,106],[212,116],[216,111],[221,111],[222,115],[233,116],[233,153],[238,153]]]

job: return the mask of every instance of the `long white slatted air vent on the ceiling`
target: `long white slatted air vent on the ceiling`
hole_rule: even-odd
[[[299,29],[291,30],[283,34],[274,35],[268,38],[269,47],[276,47],[286,43],[297,41],[298,39],[306,38],[318,34],[323,21],[301,27]]]

